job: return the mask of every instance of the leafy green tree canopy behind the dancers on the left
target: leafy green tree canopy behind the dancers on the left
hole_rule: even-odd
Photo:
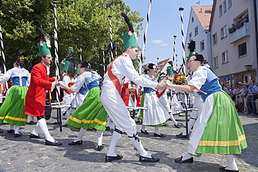
[[[44,29],[50,37],[54,57],[54,5],[52,0],[2,0],[0,1],[0,24],[3,33],[4,53],[7,68],[12,68],[13,58],[24,56],[31,70],[40,61],[36,43],[40,36],[36,27]],[[103,49],[105,66],[109,63],[110,36],[109,17],[112,15],[112,39],[117,54],[123,52],[122,35],[128,30],[121,13],[126,13],[142,29],[139,12],[130,11],[122,0],[60,0],[56,4],[59,62],[68,55],[69,61],[79,62],[79,47],[82,61],[90,61],[92,67],[103,74]],[[114,43],[113,43],[114,46]],[[1,68],[1,67],[0,67]]]

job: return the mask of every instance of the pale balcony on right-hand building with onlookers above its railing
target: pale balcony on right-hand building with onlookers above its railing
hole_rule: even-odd
[[[245,36],[250,36],[250,23],[243,23],[243,26],[236,29],[234,32],[229,33],[229,42],[234,44],[237,40],[245,38]]]

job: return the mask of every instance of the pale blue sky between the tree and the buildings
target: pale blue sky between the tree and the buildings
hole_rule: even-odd
[[[138,45],[142,48],[143,36],[146,28],[146,16],[149,8],[149,0],[123,0],[131,10],[137,10],[144,17],[142,31],[139,31]],[[198,3],[199,2],[199,3]],[[146,35],[144,56],[146,63],[158,63],[158,61],[173,57],[174,36],[176,36],[176,51],[178,65],[182,63],[182,38],[181,38],[181,12],[183,7],[183,31],[186,37],[187,24],[191,6],[212,6],[213,0],[152,0],[149,14],[149,26]],[[185,41],[184,41],[185,42]],[[187,45],[185,45],[186,47]],[[187,54],[185,54],[187,56]]]

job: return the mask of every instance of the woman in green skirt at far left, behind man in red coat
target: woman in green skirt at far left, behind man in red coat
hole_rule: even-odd
[[[10,124],[8,132],[15,133],[14,136],[22,136],[19,132],[20,126],[24,126],[27,116],[24,115],[25,95],[31,75],[29,71],[24,69],[24,58],[15,58],[13,63],[14,68],[8,70],[0,77],[0,84],[10,79],[13,81],[13,86],[8,90],[6,100],[0,107],[0,123]],[[13,130],[15,125],[15,130]]]

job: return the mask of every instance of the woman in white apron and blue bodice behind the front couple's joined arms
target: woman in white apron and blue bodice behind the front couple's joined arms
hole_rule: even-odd
[[[155,81],[154,77],[157,73],[157,66],[153,63],[149,63],[147,68],[147,75],[142,76],[151,81]],[[161,125],[165,125],[171,116],[167,109],[165,109],[165,107],[160,103],[153,88],[144,87],[144,93],[142,94],[142,107],[148,107],[148,109],[142,110],[139,115],[139,118],[142,118],[143,121],[141,132],[143,134],[149,134],[145,130],[145,126],[149,125],[151,127],[155,127],[154,136],[165,137],[164,134],[161,134],[158,131],[158,128]]]

